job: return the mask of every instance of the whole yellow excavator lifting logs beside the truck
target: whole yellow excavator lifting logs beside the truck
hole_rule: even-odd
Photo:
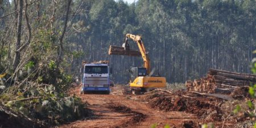
[[[134,42],[137,43],[140,53],[137,53],[136,51],[130,49],[128,39],[132,39]],[[141,54],[142,56],[144,67],[131,67],[131,80],[129,83],[130,86],[134,88],[141,88],[141,91],[148,90],[150,88],[165,88],[166,78],[160,77],[159,75],[152,75],[152,72],[150,70],[150,59],[147,55],[146,48],[144,47],[141,36],[126,34],[124,43],[122,44],[121,48],[117,49],[117,47],[115,46],[115,49],[113,49],[112,46],[110,46],[109,49],[109,55],[136,56],[139,54]],[[132,89],[132,91],[133,90],[134,89]]]

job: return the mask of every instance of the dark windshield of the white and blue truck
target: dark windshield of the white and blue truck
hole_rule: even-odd
[[[85,66],[87,74],[105,74],[108,73],[108,66]]]

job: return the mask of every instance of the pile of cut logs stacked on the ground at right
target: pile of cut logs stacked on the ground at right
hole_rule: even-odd
[[[209,69],[207,77],[186,81],[188,91],[230,94],[234,89],[256,83],[256,75]]]

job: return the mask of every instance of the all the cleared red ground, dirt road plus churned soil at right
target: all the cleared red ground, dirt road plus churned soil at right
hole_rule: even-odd
[[[109,95],[80,95],[79,88],[73,89],[71,93],[77,94],[82,98],[82,101],[88,102],[88,107],[94,115],[60,127],[151,127],[154,124],[157,125],[156,127],[164,127],[166,124],[171,127],[200,127],[201,124],[208,122],[214,122],[216,127],[222,127],[222,123],[225,123],[224,127],[233,127],[234,125],[233,121],[224,122],[222,119],[213,119],[216,117],[214,113],[221,112],[218,112],[218,109],[215,110],[214,106],[211,106],[212,104],[208,105],[208,101],[201,101],[204,100],[203,98],[191,103],[199,105],[199,107],[203,105],[202,108],[191,110],[186,105],[190,104],[189,101],[195,100],[193,97],[185,97],[186,100],[183,98],[176,99],[175,97],[180,96],[163,92],[137,96],[124,95],[122,94],[123,88],[123,86],[115,86]],[[168,101],[168,99],[171,100]],[[220,101],[210,99],[209,102],[216,102],[217,104]],[[183,107],[180,108],[175,105]],[[182,112],[174,112],[175,110]],[[213,114],[213,116],[206,116],[205,114]]]

